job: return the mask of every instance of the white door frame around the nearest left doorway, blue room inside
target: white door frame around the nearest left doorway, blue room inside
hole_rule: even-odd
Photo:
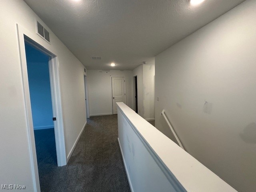
[[[50,84],[51,84],[51,94],[52,94],[52,108],[53,115],[56,117],[54,121],[54,132],[56,140],[56,154],[58,166],[64,166],[67,164],[66,159],[66,147],[64,140],[64,127],[62,118],[62,105],[61,105],[61,92],[60,92],[60,78],[59,78],[59,62],[58,56],[52,50],[52,46],[45,40],[40,38],[36,33],[32,34],[26,28],[16,24],[17,37],[18,37],[18,50],[20,56],[20,67],[22,76],[22,88],[23,88],[23,100],[24,108],[26,114],[26,130],[28,138],[28,148],[30,152],[30,164],[32,179],[34,185],[34,191],[40,191],[40,182],[38,174],[38,164],[36,157],[36,144],[34,138],[34,127],[32,120],[32,110],[30,102],[30,93],[28,85],[28,71],[26,62],[26,50],[25,42],[31,44],[36,49],[44,52],[50,56],[49,61],[49,72],[50,72]]]

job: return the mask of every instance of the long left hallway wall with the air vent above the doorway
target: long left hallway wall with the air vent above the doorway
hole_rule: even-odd
[[[39,20],[44,26],[45,24],[24,1],[1,0],[0,7],[0,181],[2,184],[25,185],[26,191],[34,191],[16,23],[30,31],[38,42],[44,40],[36,34],[35,20]],[[84,67],[52,31],[45,27],[50,32],[51,40],[51,44],[47,46],[58,56],[68,154],[86,122]]]

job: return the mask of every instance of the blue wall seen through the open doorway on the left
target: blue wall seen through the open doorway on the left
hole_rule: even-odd
[[[25,44],[34,130],[53,128],[49,57]]]

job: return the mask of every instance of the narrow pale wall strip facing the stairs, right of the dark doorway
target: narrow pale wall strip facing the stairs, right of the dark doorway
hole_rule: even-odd
[[[155,65],[143,64],[143,106],[144,119],[154,120],[155,118]]]

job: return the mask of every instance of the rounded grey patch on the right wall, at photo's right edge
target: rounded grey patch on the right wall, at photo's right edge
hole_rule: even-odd
[[[246,143],[256,144],[256,124],[252,122],[244,128],[244,132],[240,133],[240,137]]]

